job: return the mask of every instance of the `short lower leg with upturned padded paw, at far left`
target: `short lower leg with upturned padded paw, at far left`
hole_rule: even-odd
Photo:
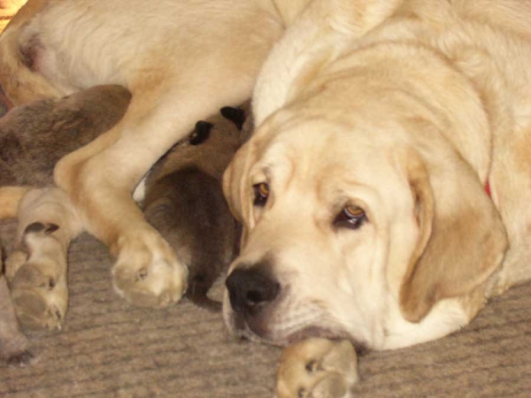
[[[60,328],[68,304],[66,255],[81,223],[64,191],[30,191],[19,204],[17,249],[6,262],[22,325]]]

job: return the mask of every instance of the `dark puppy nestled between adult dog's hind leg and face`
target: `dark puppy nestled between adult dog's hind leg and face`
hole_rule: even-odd
[[[241,228],[228,209],[222,174],[250,134],[249,103],[225,107],[155,165],[146,183],[144,213],[189,267],[190,301],[219,311],[207,293],[238,251]]]

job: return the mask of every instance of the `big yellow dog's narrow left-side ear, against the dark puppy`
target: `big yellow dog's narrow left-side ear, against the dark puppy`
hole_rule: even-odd
[[[227,198],[228,207],[243,226],[242,244],[246,238],[246,226],[251,222],[251,187],[248,174],[255,151],[252,142],[243,144],[223,174],[223,193]]]

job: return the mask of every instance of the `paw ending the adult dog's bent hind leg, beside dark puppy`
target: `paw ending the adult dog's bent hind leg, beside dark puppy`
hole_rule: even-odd
[[[181,299],[188,268],[158,233],[122,236],[117,249],[112,279],[119,295],[139,307],[167,307]]]

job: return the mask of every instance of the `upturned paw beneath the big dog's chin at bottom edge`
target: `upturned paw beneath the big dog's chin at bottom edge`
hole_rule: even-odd
[[[356,351],[349,341],[309,339],[284,349],[277,398],[350,398],[358,381]]]

